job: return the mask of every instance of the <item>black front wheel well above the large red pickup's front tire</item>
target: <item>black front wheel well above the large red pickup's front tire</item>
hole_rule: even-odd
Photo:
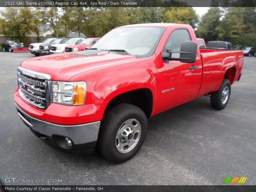
[[[136,89],[117,95],[109,101],[104,115],[110,108],[120,103],[129,103],[141,108],[149,118],[153,108],[153,95],[151,90],[147,88]]]

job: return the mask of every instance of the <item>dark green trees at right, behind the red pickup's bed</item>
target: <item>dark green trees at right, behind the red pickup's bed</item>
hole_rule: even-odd
[[[212,7],[202,16],[196,34],[206,42],[228,41],[242,48],[256,46],[255,31],[255,7]]]

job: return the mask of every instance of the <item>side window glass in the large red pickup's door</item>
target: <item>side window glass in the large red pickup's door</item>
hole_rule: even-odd
[[[184,41],[190,41],[189,33],[186,29],[177,29],[171,33],[164,48],[172,50],[180,50]]]

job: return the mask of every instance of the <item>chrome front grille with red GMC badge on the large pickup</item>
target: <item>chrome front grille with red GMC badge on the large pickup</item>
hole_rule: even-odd
[[[28,103],[38,107],[47,108],[52,101],[51,77],[47,74],[37,73],[18,67],[18,83],[20,96]],[[46,80],[47,79],[47,80]]]

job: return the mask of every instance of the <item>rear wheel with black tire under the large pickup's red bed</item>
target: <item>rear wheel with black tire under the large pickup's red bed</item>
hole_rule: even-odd
[[[226,97],[225,97],[225,99],[222,98],[222,94],[224,94],[224,89],[225,90],[228,89],[227,100],[226,100]],[[226,105],[228,104],[230,93],[231,93],[230,81],[228,79],[223,79],[222,84],[220,86],[220,89],[218,91],[215,91],[215,92],[211,93],[212,108],[218,109],[218,110],[224,109],[226,107]],[[222,102],[222,99],[223,99],[223,102],[225,101],[224,103]]]

